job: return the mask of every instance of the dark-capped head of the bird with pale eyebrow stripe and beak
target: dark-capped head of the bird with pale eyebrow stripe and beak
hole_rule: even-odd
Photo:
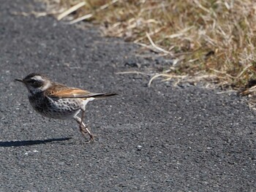
[[[26,85],[29,93],[39,93],[48,89],[51,85],[51,81],[43,74],[31,73],[24,79],[15,79],[19,82],[23,82]]]

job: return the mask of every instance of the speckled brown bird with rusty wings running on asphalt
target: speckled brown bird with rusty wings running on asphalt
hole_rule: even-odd
[[[83,123],[86,104],[94,99],[118,95],[118,93],[91,93],[80,88],[69,87],[50,80],[45,74],[36,72],[28,74],[23,79],[15,80],[26,86],[29,91],[29,102],[36,112],[47,118],[74,119],[79,124],[83,137],[89,134],[88,142],[94,141],[94,135]],[[82,112],[81,118],[78,117],[80,111]]]

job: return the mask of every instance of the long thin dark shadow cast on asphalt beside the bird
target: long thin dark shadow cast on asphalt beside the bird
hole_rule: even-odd
[[[69,139],[72,139],[72,137],[25,140],[25,141],[8,141],[8,142],[0,142],[0,147],[20,147],[20,146],[28,146],[28,145],[40,145],[40,144],[45,144],[48,142],[68,141]]]

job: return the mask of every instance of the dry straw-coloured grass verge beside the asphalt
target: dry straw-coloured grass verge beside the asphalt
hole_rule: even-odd
[[[80,2],[52,0],[49,7],[67,10]],[[175,64],[162,78],[209,75],[236,89],[256,79],[254,0],[84,2],[73,19],[89,19],[101,25],[106,36],[122,37],[173,59]]]

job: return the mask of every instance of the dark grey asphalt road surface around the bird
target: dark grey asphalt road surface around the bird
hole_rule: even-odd
[[[17,15],[33,1],[0,4],[0,191],[256,191],[256,120],[244,99],[170,82],[148,88],[148,76],[116,74],[161,67],[132,43]],[[88,105],[94,143],[83,144],[75,121],[32,110],[14,82],[30,72],[121,94]]]

